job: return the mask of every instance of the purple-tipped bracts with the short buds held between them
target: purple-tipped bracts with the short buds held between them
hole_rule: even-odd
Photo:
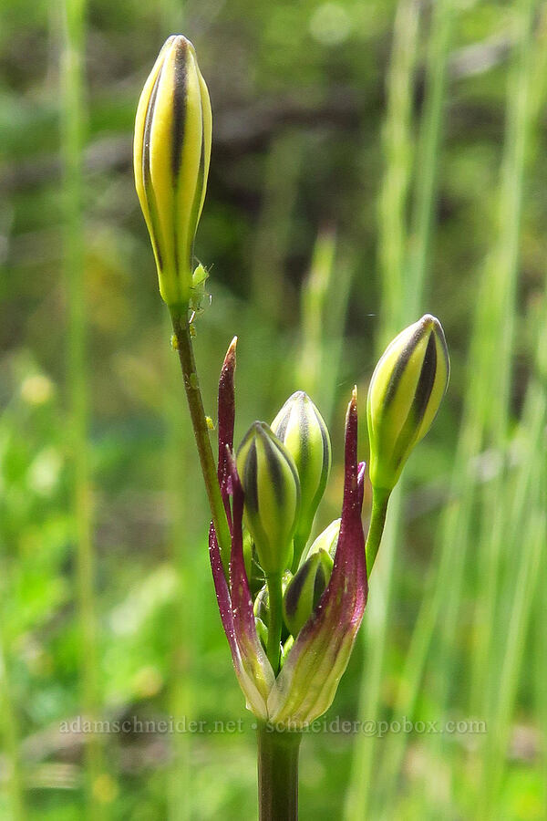
[[[280,414],[285,424],[279,423],[279,417],[275,423],[285,441],[264,422],[255,422],[234,460],[234,369],[232,343],[222,368],[218,426],[219,479],[231,527],[232,556],[226,578],[211,527],[212,574],[247,706],[263,721],[296,729],[313,722],[332,702],[366,605],[361,525],[365,465],[357,462],[356,391],[346,416],[339,533],[336,527],[330,552],[320,537],[294,565],[294,534],[304,538],[302,515],[308,516],[308,535],[313,523],[310,504],[303,505],[302,499],[312,495],[313,486],[325,488],[323,473],[330,465],[325,422],[305,394],[295,394]],[[315,509],[318,502],[319,498]],[[291,567],[297,567],[294,574]],[[281,588],[279,598],[274,596],[275,584]],[[274,652],[270,651],[272,630],[277,630]]]

